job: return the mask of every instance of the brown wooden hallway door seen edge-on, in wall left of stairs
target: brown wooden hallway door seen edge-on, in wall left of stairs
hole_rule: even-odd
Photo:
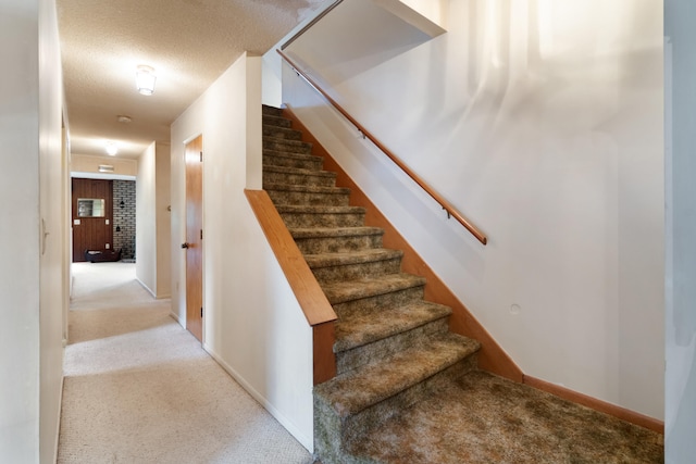
[[[186,328],[203,341],[203,137],[186,145]]]

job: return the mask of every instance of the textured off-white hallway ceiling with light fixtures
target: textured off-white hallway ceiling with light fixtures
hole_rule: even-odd
[[[245,51],[266,52],[326,0],[58,0],[72,152],[137,158]],[[135,89],[152,66],[154,95]],[[128,115],[129,124],[116,121]]]

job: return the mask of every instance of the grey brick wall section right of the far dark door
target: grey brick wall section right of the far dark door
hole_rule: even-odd
[[[135,258],[135,180],[113,181],[113,249],[121,259]]]

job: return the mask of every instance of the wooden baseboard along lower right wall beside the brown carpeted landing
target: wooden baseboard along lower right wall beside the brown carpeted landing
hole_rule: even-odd
[[[656,418],[643,415],[641,413],[636,413],[635,411],[617,406],[616,404],[611,404],[606,401],[601,401],[596,398],[588,397],[583,393],[579,393],[577,391],[573,391],[569,388],[561,387],[560,385],[551,384],[549,381],[542,380],[539,378],[535,378],[529,375],[524,375],[523,383],[529,385],[530,387],[534,387],[536,389],[544,390],[548,393],[562,398],[563,400],[582,404],[583,406],[587,406],[600,413],[614,416],[617,418],[620,418],[621,421],[625,421],[627,423],[635,424],[639,427],[647,428],[649,430],[654,430],[654,431],[657,431],[658,434],[664,435],[664,423],[662,421],[658,421]]]

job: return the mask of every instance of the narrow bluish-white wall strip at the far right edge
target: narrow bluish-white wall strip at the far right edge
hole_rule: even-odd
[[[696,453],[696,10],[688,0],[668,0],[664,7],[664,461],[676,464],[692,462]]]

